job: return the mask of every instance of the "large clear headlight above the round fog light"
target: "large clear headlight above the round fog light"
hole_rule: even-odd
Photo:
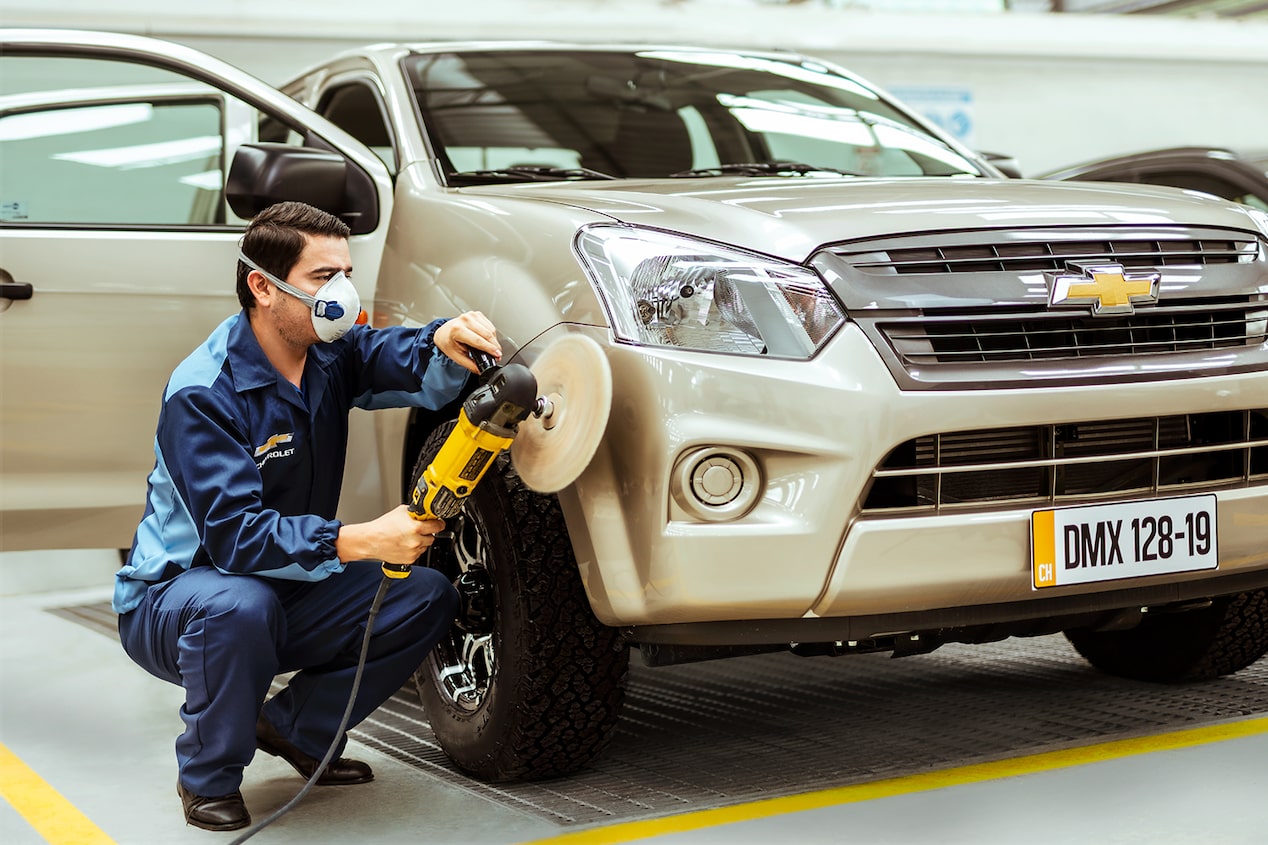
[[[705,241],[590,226],[577,254],[626,343],[809,358],[846,318],[813,270]]]

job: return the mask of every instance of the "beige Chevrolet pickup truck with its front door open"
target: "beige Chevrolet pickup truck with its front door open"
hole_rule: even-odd
[[[798,55],[378,44],[278,90],[0,36],[5,548],[129,544],[162,384],[274,202],[349,222],[375,326],[600,345],[581,477],[543,495],[502,455],[425,561],[467,612],[416,685],[474,776],[595,759],[634,651],[1064,632],[1158,683],[1268,651],[1262,211],[1008,179]],[[356,412],[347,514],[402,501],[454,414]]]

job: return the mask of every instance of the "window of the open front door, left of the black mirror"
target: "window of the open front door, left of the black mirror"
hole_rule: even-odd
[[[260,140],[304,143],[191,76],[81,56],[0,56],[0,223],[241,227],[224,200],[227,167],[240,145]]]

